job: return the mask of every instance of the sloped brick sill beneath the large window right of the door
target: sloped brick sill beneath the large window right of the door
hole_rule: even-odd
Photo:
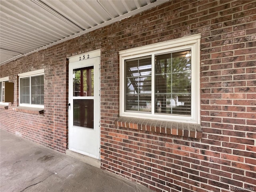
[[[148,120],[140,118],[119,117],[115,121],[116,126],[136,130],[151,131],[157,133],[202,138],[201,126],[198,124],[177,123],[169,121]]]

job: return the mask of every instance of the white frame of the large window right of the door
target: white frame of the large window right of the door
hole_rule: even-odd
[[[172,122],[186,122],[200,124],[200,39],[201,34],[186,36],[175,40],[156,43],[152,45],[132,48],[120,51],[120,116],[144,118],[152,120],[166,120]],[[177,52],[179,50],[191,50],[191,116],[154,114],[154,102],[152,112],[126,112],[125,111],[125,60],[140,58],[143,56],[152,56],[152,69],[154,69],[155,54],[164,54],[165,52]],[[154,85],[154,70],[152,70],[152,85]],[[152,98],[154,98],[154,86],[152,86]]]

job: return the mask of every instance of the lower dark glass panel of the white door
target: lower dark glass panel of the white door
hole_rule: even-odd
[[[73,125],[93,129],[93,99],[74,99]]]

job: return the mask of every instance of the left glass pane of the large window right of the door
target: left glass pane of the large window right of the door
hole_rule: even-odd
[[[151,57],[125,61],[125,110],[151,112]]]

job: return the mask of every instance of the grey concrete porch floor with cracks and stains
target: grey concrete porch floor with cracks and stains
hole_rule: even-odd
[[[150,189],[0,129],[1,192],[149,192]]]

